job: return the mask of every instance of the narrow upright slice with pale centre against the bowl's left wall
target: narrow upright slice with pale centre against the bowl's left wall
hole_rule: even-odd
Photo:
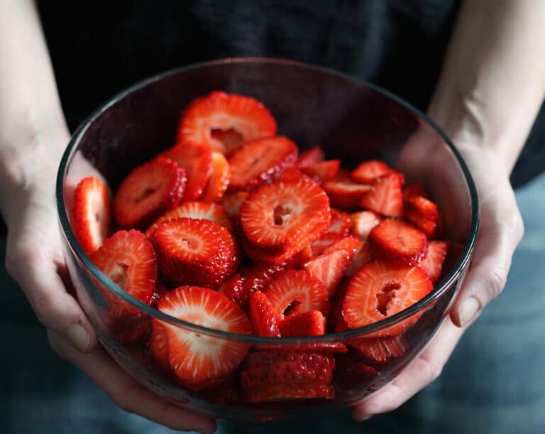
[[[79,181],[72,205],[72,229],[86,254],[97,250],[111,231],[108,188],[99,178]]]

